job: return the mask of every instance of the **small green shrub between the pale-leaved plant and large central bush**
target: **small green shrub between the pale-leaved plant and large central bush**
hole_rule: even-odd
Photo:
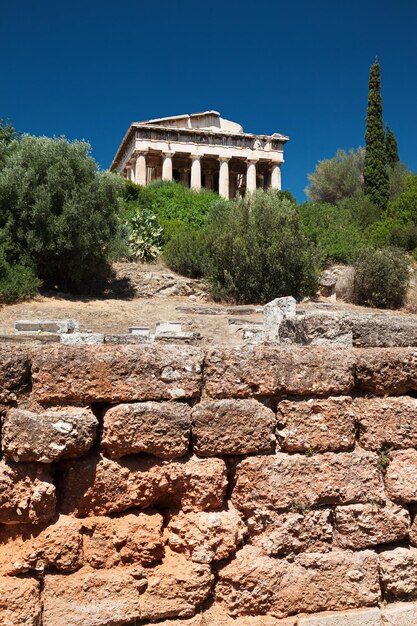
[[[201,278],[205,266],[204,233],[190,228],[179,230],[165,245],[164,260],[174,272]]]

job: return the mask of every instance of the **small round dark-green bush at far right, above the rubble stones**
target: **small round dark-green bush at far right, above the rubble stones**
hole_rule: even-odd
[[[407,259],[400,250],[363,250],[354,268],[353,295],[358,304],[391,309],[404,304],[409,273]]]

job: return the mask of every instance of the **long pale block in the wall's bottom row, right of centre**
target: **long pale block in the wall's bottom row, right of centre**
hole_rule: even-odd
[[[216,600],[235,617],[339,611],[379,600],[378,560],[371,551],[309,553],[288,562],[245,546],[219,570]]]

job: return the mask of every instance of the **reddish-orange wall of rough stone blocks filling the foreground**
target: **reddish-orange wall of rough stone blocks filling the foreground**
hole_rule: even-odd
[[[417,623],[417,349],[0,350],[2,626]]]

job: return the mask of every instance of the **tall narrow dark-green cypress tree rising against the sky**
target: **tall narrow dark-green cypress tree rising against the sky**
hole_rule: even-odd
[[[389,197],[385,133],[382,121],[381,78],[378,59],[369,73],[368,111],[366,115],[365,193],[385,209]]]

